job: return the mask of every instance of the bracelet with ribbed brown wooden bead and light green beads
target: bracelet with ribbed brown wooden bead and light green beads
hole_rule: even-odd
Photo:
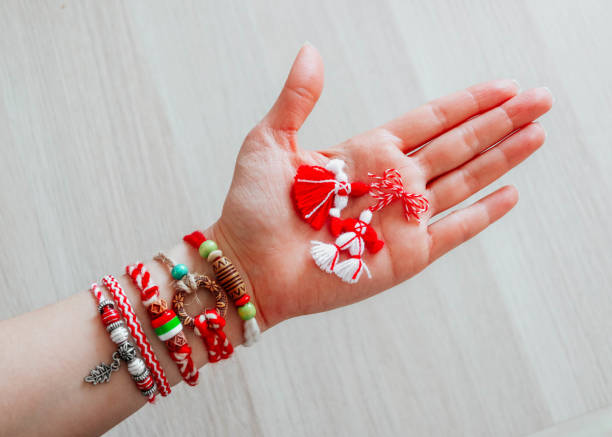
[[[244,321],[244,345],[251,346],[260,337],[259,325],[255,318],[256,308],[251,297],[246,292],[246,284],[232,262],[223,255],[217,243],[207,240],[201,231],[185,235],[183,240],[194,247],[200,256],[211,263],[217,281],[225,289],[227,295],[234,301],[238,315]]]

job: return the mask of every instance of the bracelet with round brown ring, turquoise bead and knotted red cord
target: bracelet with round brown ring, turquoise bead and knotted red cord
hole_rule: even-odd
[[[211,363],[227,359],[234,352],[234,348],[223,331],[225,326],[225,314],[227,313],[228,300],[223,288],[214,280],[200,273],[189,273],[185,264],[176,264],[166,254],[160,252],[155,260],[164,264],[170,270],[174,279],[174,297],[172,308],[178,315],[183,326],[193,328],[208,351],[208,361]],[[192,318],[185,310],[185,295],[195,293],[199,288],[211,292],[215,298],[215,308],[207,309],[202,314]]]

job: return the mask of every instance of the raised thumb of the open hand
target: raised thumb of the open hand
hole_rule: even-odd
[[[272,129],[297,132],[323,90],[323,60],[309,43],[298,52],[276,103],[264,118]]]

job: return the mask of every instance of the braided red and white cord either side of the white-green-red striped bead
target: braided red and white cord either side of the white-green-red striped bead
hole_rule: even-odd
[[[140,290],[140,297],[145,307],[148,307],[159,298],[159,288],[151,280],[151,274],[143,263],[128,265],[125,271]],[[178,349],[171,348],[168,343],[166,344],[169,348],[170,358],[176,363],[183,380],[189,385],[196,385],[200,373],[191,358],[191,347],[189,344],[185,341],[185,344],[178,347]]]

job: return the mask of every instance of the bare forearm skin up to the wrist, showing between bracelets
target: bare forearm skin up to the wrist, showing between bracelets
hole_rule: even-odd
[[[231,257],[229,248],[224,252]],[[196,250],[180,243],[167,251],[177,262],[186,264],[190,272],[200,272],[214,277],[206,261]],[[125,260],[126,264],[127,261]],[[154,281],[159,285],[160,296],[172,301],[173,288],[168,269],[156,261],[146,263]],[[149,316],[142,305],[139,291],[126,275],[115,276],[131,301],[136,315],[164,369],[171,385],[181,381],[176,364],[171,360],[166,346],[153,332]],[[243,272],[243,277],[247,279]],[[93,278],[92,278],[93,279]],[[110,295],[108,295],[110,297]],[[204,305],[212,307],[210,296],[199,292],[198,299],[187,306],[191,315],[199,314]],[[253,296],[251,296],[253,298]],[[191,298],[187,298],[191,301]],[[188,302],[186,302],[187,304]],[[235,309],[227,312],[225,332],[234,346],[242,343],[242,321]],[[260,326],[263,324],[260,321]],[[43,430],[54,430],[62,435],[100,434],[128,417],[146,403],[123,369],[114,372],[111,381],[91,386],[83,381],[89,370],[101,361],[109,362],[116,345],[100,321],[96,303],[88,291],[54,305],[0,322],[4,335],[0,339],[2,359],[0,364],[0,410],[10,412],[0,421],[7,435],[35,435]],[[197,367],[207,362],[206,349],[192,330],[184,329],[192,357]],[[172,402],[158,396],[157,402]],[[155,407],[153,407],[155,408]]]

